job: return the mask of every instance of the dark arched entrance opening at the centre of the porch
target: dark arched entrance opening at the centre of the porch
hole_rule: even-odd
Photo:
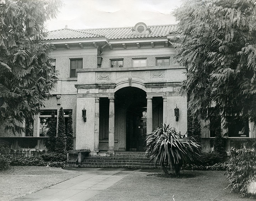
[[[126,151],[144,151],[146,107],[146,92],[143,89],[123,87],[115,92],[115,130],[120,135],[119,146],[123,144]]]

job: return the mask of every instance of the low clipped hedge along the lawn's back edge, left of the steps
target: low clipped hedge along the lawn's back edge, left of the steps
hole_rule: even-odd
[[[46,162],[39,157],[14,157],[11,160],[11,165],[14,166],[49,166],[56,168],[64,168],[65,162]]]

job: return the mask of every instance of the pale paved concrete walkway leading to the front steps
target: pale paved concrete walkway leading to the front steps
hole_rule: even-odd
[[[79,168],[72,170],[78,170],[82,175],[25,195],[15,199],[15,201],[83,201],[136,171],[124,168]]]

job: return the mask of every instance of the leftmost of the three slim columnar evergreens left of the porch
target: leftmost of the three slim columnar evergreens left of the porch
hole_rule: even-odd
[[[56,126],[57,126],[54,112],[52,112],[52,116],[50,118],[50,121],[48,122],[48,126],[49,126],[49,129],[47,131],[48,140],[47,140],[46,147],[49,152],[54,152],[55,151],[55,143],[56,143],[56,139],[55,139]]]

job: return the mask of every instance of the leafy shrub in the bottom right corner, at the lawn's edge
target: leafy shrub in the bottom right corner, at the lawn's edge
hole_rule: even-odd
[[[228,187],[242,197],[256,198],[256,151],[233,148],[230,152],[231,157],[225,172],[229,182]]]

